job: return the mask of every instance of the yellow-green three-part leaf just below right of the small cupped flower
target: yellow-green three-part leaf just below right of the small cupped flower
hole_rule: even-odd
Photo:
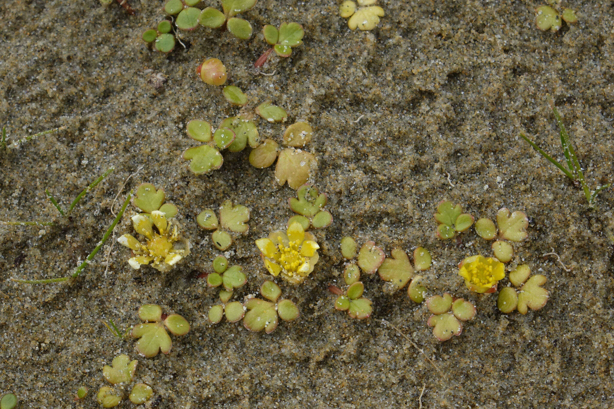
[[[497,307],[502,313],[509,314],[518,308],[518,312],[524,315],[529,308],[540,310],[546,305],[550,294],[542,286],[546,283],[547,278],[542,274],[529,278],[530,273],[530,268],[526,264],[521,264],[516,267],[516,270],[510,272],[510,283],[519,290],[504,287],[499,291]]]

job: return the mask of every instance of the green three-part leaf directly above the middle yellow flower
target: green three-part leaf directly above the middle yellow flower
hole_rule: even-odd
[[[326,194],[319,193],[317,188],[305,184],[298,188],[297,197],[290,197],[288,204],[292,212],[298,213],[288,221],[288,225],[298,221],[307,230],[309,227],[322,229],[333,223],[333,215],[328,210],[322,210],[327,204]]]

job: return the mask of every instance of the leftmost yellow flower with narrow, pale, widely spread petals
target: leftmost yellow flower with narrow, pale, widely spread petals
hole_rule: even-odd
[[[166,215],[159,210],[151,214],[141,213],[132,217],[134,231],[146,238],[145,244],[130,234],[124,234],[117,242],[130,248],[134,256],[128,259],[130,267],[137,270],[142,264],[149,264],[154,269],[166,272],[190,254],[190,243],[179,238],[177,224],[166,220]],[[156,231],[153,230],[155,226]]]

